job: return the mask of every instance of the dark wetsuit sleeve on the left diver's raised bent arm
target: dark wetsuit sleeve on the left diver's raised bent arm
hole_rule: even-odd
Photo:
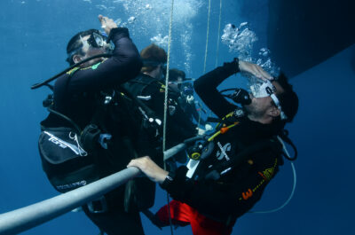
[[[70,93],[91,92],[112,88],[138,75],[142,62],[138,50],[130,40],[128,29],[112,29],[113,56],[92,67],[76,71],[67,84]]]

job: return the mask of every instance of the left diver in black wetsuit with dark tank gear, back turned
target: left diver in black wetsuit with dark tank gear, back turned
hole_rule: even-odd
[[[41,122],[39,150],[43,170],[59,192],[114,174],[138,156],[155,154],[140,119],[134,118],[137,103],[120,87],[142,67],[138,50],[126,27],[101,15],[99,21],[106,35],[91,29],[73,36],[67,43],[67,62],[73,68],[61,73],[54,87],[46,84],[53,96],[43,101],[50,114]],[[133,179],[83,205],[83,211],[102,233],[144,234],[139,210],[153,206],[154,185],[147,178]]]

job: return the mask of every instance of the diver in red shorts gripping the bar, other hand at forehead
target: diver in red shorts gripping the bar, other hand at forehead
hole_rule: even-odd
[[[250,86],[251,93],[218,92],[217,86],[238,72],[260,82]],[[261,199],[283,164],[276,137],[294,119],[298,98],[285,75],[272,80],[261,67],[239,59],[202,75],[193,85],[220,120],[216,132],[195,150],[199,158],[194,167],[168,172],[148,156],[130,161],[128,167],[139,168],[174,199],[155,214],[158,226],[169,225],[171,218],[173,224],[191,224],[194,235],[231,234],[236,220]]]

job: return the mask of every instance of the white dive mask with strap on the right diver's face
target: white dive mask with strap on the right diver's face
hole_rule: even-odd
[[[265,82],[256,82],[250,86],[250,90],[255,98],[271,97],[275,106],[277,106],[280,110],[281,120],[285,120],[288,118],[286,114],[282,112],[280,100],[275,95],[276,88],[274,85],[272,85],[272,82],[270,82],[269,80]]]

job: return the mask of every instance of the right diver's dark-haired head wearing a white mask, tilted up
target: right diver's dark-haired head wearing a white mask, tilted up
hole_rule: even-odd
[[[298,97],[284,74],[275,81],[250,86],[251,103],[244,106],[248,118],[264,124],[294,119],[298,110]]]

